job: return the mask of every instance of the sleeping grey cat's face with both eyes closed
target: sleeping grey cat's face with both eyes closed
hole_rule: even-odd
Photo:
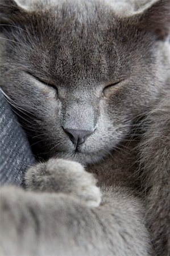
[[[3,18],[2,88],[42,156],[94,163],[155,100],[167,43],[102,1],[54,2]]]

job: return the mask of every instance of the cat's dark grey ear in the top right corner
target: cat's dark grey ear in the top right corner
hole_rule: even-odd
[[[158,40],[164,40],[170,33],[170,0],[159,0],[134,15],[136,25],[153,32]]]

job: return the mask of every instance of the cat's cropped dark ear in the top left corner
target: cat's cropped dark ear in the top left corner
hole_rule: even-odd
[[[19,22],[26,14],[26,9],[15,0],[1,0],[0,5],[1,26]]]

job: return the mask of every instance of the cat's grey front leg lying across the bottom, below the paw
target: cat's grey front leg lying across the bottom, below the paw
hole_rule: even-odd
[[[99,207],[65,193],[0,188],[1,256],[149,256],[143,204],[114,192]]]

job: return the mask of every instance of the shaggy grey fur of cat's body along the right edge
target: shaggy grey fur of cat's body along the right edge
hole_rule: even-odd
[[[169,89],[148,113],[140,143],[142,181],[146,191],[146,217],[155,250],[170,254],[170,81]],[[160,246],[161,245],[161,246]]]

